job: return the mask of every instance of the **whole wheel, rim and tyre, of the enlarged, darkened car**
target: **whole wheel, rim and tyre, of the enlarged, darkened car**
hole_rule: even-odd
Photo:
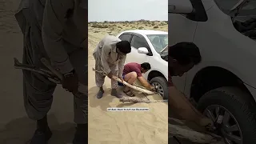
[[[256,143],[256,106],[254,99],[235,87],[210,90],[200,98],[198,110],[218,124],[227,144]]]

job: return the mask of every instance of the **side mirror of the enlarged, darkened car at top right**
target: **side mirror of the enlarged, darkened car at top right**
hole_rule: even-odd
[[[193,12],[193,6],[190,0],[168,0],[168,13],[190,14]]]

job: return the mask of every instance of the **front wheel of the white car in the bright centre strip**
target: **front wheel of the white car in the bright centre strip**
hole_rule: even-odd
[[[168,86],[166,78],[152,78],[150,80],[150,84],[158,90],[158,93],[162,96],[163,99],[168,99]]]

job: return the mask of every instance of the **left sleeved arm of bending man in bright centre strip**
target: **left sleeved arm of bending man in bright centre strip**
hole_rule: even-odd
[[[110,46],[104,45],[102,47],[102,58],[101,58],[101,61],[102,61],[103,69],[105,70],[105,72],[107,74],[110,74],[110,72],[111,72],[110,66],[107,63],[107,60],[110,57],[110,52],[111,52],[111,47]]]

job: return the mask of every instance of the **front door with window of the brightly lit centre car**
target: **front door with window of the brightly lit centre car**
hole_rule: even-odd
[[[138,62],[138,63],[149,62],[149,57],[151,54],[150,46],[142,35],[134,34],[131,39],[130,45],[131,45],[131,54],[129,58],[130,62]],[[140,47],[146,47],[149,50],[150,54],[139,54],[138,48]]]

